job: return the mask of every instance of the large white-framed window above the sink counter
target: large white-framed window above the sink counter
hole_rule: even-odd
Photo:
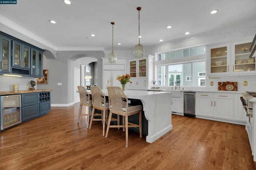
[[[159,53],[156,56],[158,86],[205,86],[205,46]]]

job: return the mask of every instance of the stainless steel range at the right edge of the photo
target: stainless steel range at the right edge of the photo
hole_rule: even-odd
[[[242,102],[242,107],[244,108],[244,113],[246,114],[246,125],[245,129],[248,133],[249,141],[251,148],[253,149],[253,128],[254,128],[254,122],[253,122],[253,102],[250,102],[252,98],[256,97],[256,92],[246,92],[242,93],[242,97],[240,97],[240,100]]]

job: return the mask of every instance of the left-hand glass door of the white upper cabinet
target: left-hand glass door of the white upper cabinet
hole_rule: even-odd
[[[208,48],[208,73],[215,75],[230,74],[229,45]]]

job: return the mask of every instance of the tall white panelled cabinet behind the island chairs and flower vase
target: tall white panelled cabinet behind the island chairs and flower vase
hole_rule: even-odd
[[[106,89],[107,86],[121,87],[121,84],[116,80],[116,77],[125,74],[126,59],[118,58],[118,61],[115,64],[109,64],[107,57],[103,57],[102,60],[102,89]]]

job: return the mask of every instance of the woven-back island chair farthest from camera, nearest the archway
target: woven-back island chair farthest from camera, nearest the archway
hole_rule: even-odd
[[[81,115],[87,115],[87,128],[90,123],[90,107],[92,106],[92,100],[90,99],[90,94],[86,91],[84,86],[77,86],[79,96],[80,96],[80,107],[77,117],[77,123],[79,123],[79,119]],[[81,114],[82,106],[87,106],[87,114]]]

